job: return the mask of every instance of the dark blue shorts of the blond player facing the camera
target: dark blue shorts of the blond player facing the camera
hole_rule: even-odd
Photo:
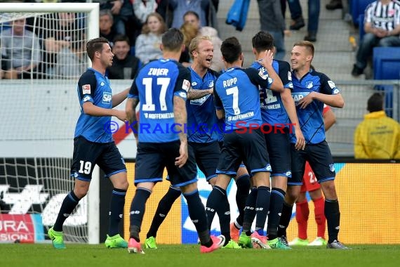
[[[218,160],[220,159],[221,150],[217,141],[211,143],[193,143],[189,142],[194,152],[194,158],[200,171],[206,176],[206,181],[216,177]]]

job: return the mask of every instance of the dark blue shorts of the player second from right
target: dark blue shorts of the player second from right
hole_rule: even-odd
[[[275,129],[269,133],[264,133],[272,167],[271,176],[291,177],[291,141],[289,138],[289,129],[287,127],[281,129],[284,133],[275,131]]]

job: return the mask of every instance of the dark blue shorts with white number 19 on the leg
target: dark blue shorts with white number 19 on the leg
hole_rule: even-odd
[[[91,181],[95,164],[107,177],[126,172],[124,159],[114,142],[93,143],[83,136],[74,138],[71,176],[81,181]]]

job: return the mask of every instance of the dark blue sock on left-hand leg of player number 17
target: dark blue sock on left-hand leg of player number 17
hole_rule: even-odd
[[[133,197],[131,204],[131,226],[129,229],[130,237],[135,238],[140,242],[139,233],[140,226],[142,226],[143,216],[145,215],[145,207],[147,199],[152,192],[146,188],[136,188],[135,197]]]

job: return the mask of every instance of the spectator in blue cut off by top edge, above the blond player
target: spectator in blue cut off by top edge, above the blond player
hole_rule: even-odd
[[[170,0],[169,6],[173,11],[172,27],[179,28],[183,24],[183,15],[187,11],[196,12],[200,18],[200,26],[207,26],[206,13],[210,8],[210,4],[209,0]]]

